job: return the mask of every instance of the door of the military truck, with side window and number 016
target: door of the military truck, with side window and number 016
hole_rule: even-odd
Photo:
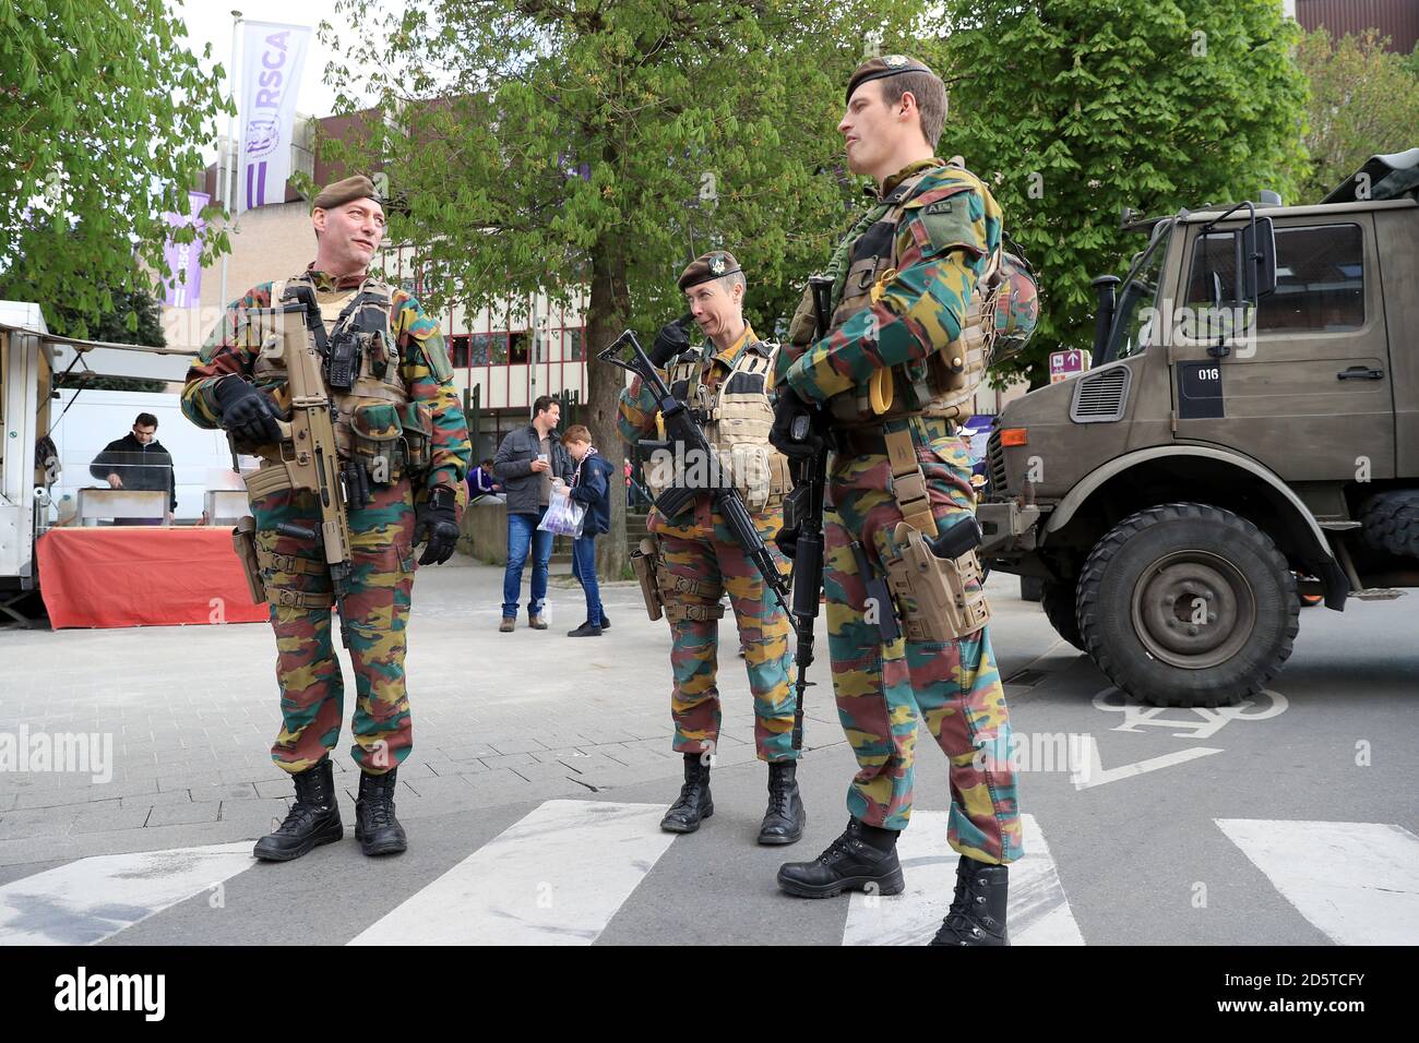
[[[1374,214],[1277,216],[1277,285],[1252,329],[1232,305],[1239,227],[1189,230],[1169,338],[1175,437],[1229,446],[1288,481],[1393,477]]]

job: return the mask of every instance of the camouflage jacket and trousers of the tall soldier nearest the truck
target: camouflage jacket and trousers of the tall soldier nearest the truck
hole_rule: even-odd
[[[897,224],[897,270],[880,298],[851,316],[840,316],[846,321],[806,351],[792,345],[780,351],[779,380],[805,400],[866,394],[877,370],[921,362],[961,333],[975,282],[1000,243],[1000,210],[981,182],[937,159],[914,163],[888,179],[883,196],[922,173]],[[944,203],[948,199],[952,202]],[[928,219],[932,203],[965,204],[968,220],[954,223],[958,233],[965,228],[958,238],[941,241],[941,226],[932,227]],[[876,207],[858,221],[834,255],[834,267],[843,267],[840,261],[850,255],[853,241],[885,210]],[[837,275],[834,305],[843,297],[843,272]],[[973,511],[969,453],[951,421],[912,416],[878,424],[877,430],[910,430],[931,514],[941,528]],[[829,651],[839,718],[858,763],[847,807],[854,820],[867,826],[907,827],[920,715],[951,765],[951,847],[983,863],[1010,863],[1022,853],[1015,778],[1007,759],[978,758],[982,746],[1009,748],[1009,712],[988,630],[952,641],[898,637],[883,643],[877,627],[864,622],[864,578],[850,545],[863,545],[877,575],[897,555],[894,529],[902,512],[891,475],[881,451],[836,453],[829,473]]]

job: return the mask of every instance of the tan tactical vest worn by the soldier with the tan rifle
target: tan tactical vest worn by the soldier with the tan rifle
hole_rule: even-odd
[[[289,282],[311,282],[308,277],[271,284],[271,304],[280,307]],[[333,345],[350,338],[356,345],[349,390],[326,385],[335,406],[335,443],[341,457],[359,460],[377,484],[394,482],[406,471],[429,465],[433,413],[412,402],[400,366],[399,346],[390,329],[393,287],[366,278],[353,289],[319,291],[326,339]],[[253,366],[257,383],[285,379],[281,345],[268,339]],[[328,369],[322,376],[329,379]]]

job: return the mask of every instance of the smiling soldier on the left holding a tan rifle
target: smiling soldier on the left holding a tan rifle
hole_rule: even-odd
[[[331,762],[345,692],[325,556],[318,542],[294,535],[319,531],[314,494],[291,488],[289,480],[282,488],[284,468],[268,465],[280,458],[275,419],[288,416],[291,392],[284,362],[260,351],[263,324],[254,309],[270,308],[282,287],[312,287],[332,338],[342,331],[365,338],[353,392],[331,394],[342,457],[363,458],[362,453],[389,446],[390,438],[400,444],[393,470],[369,471],[369,501],[348,509],[352,569],[341,624],[355,666],[350,755],[360,769],[355,834],[366,854],[407,846],[393,793],[397,768],[413,746],[404,629],[417,568],[414,546],[427,541],[419,565],[441,563],[453,553],[471,456],[438,325],[407,292],[366,275],[385,236],[373,183],[350,177],[328,186],[315,199],[312,224],[315,263],[284,284],[263,282],[228,305],[187,372],[182,402],[199,427],[226,429],[234,447],[265,461],[247,484],[260,582],[271,602],[284,718],[271,759],[292,775],[297,795],[280,829],[255,846],[258,859],[272,861],[298,859],[345,833]]]

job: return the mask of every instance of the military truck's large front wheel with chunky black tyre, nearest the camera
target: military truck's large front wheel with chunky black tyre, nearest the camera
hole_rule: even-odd
[[[1291,654],[1300,603],[1286,558],[1256,525],[1208,504],[1149,507],[1084,562],[1084,650],[1155,707],[1235,705]]]

